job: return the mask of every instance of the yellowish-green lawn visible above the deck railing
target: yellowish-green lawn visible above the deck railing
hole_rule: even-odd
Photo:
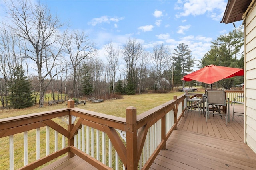
[[[87,104],[79,104],[80,109],[86,109],[90,111],[96,111],[98,113],[104,113],[108,115],[115,115],[119,117],[125,117],[126,108],[134,106],[137,109],[137,113],[143,113],[149,109],[152,109],[160,104],[163,104],[173,99],[174,95],[180,96],[183,92],[177,93],[162,93],[162,94],[140,94],[140,95],[124,95],[122,99],[104,100],[102,103],[92,103],[87,101]],[[44,111],[50,111],[55,109],[66,108],[66,102],[63,104],[50,105],[45,104],[43,108],[39,108],[38,104],[26,109],[8,109],[1,110],[0,119],[7,117],[14,117],[19,115],[26,115],[31,113],[39,113]]]

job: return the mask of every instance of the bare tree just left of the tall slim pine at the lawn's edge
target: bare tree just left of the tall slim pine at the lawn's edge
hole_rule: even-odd
[[[162,72],[164,71],[170,57],[171,53],[168,46],[164,46],[164,44],[154,45],[151,59],[153,69],[156,72],[156,86],[158,90],[161,88],[160,80],[162,79]]]

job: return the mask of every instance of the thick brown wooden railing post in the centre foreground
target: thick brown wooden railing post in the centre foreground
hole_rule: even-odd
[[[137,169],[137,109],[135,107],[126,108],[126,170]]]

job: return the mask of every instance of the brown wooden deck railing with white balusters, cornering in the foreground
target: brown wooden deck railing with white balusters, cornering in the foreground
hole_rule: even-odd
[[[1,168],[35,169],[63,155],[77,155],[98,169],[148,169],[184,113],[181,95],[126,118],[74,107],[0,119]],[[3,150],[2,150],[3,149]],[[17,165],[17,162],[23,162]],[[1,169],[0,168],[0,169]]]

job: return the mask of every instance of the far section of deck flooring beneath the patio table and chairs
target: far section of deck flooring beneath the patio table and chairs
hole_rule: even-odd
[[[243,108],[243,105],[236,105],[235,111],[243,111]],[[178,129],[244,142],[244,117],[234,116],[232,121],[232,112],[230,105],[230,122],[226,126],[224,116],[221,119],[219,115],[213,117],[211,114],[206,122],[203,114],[199,116],[198,111],[188,111],[179,122]]]

